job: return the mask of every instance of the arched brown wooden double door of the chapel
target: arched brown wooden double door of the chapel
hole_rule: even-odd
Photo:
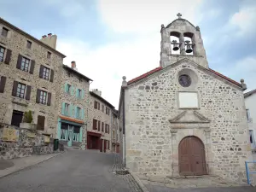
[[[178,145],[180,175],[206,175],[204,144],[198,137],[184,137]]]

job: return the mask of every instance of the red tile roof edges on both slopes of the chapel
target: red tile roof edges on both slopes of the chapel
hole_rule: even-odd
[[[147,73],[144,73],[144,74],[138,76],[138,77],[135,78],[135,79],[131,79],[130,81],[128,81],[128,84],[133,84],[133,83],[137,82],[138,80],[147,78],[149,75],[151,75],[151,74],[153,74],[153,73],[156,73],[156,72],[159,72],[162,68],[163,68],[163,67],[154,68],[153,70],[151,70],[151,71],[149,71],[149,72],[147,72]],[[209,71],[212,72],[212,73],[214,73],[214,74],[216,74],[216,75],[218,75],[219,77],[221,77],[221,78],[223,78],[223,79],[226,79],[226,80],[230,81],[230,82],[233,83],[233,84],[236,84],[236,85],[238,85],[238,86],[241,86],[241,84],[239,84],[239,83],[236,82],[235,80],[230,79],[230,78],[224,76],[223,74],[218,73],[218,72],[212,70],[211,68],[209,68]]]

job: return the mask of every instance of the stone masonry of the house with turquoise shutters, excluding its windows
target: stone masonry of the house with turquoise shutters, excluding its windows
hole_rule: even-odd
[[[72,85],[72,94],[67,94],[65,92],[65,84]],[[79,107],[84,109],[84,125],[82,126],[83,129],[83,139],[82,143],[80,143],[80,148],[86,148],[86,123],[88,123],[88,113],[89,113],[89,82],[82,77],[80,77],[75,72],[70,72],[66,68],[62,68],[61,73],[61,83],[60,86],[60,93],[59,93],[59,103],[58,103],[58,114],[61,115],[61,108],[62,102],[69,103],[70,106]],[[78,98],[76,96],[77,89],[84,90],[83,98]],[[75,108],[73,108],[71,118],[75,119]],[[58,122],[59,123],[59,122]]]

